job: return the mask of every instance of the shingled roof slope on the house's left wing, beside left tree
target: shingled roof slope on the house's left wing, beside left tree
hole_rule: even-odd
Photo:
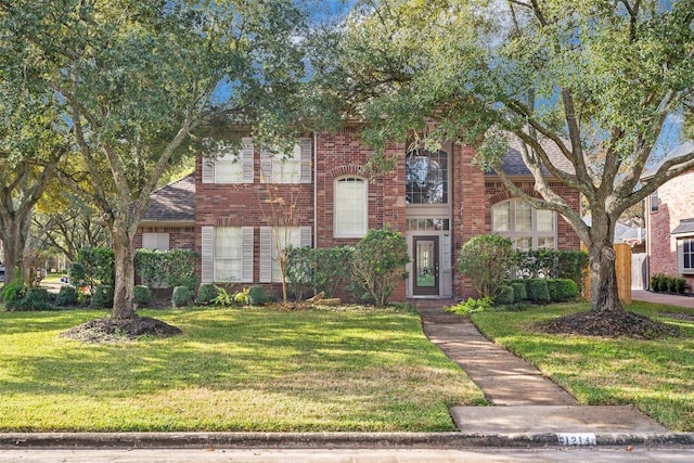
[[[150,195],[150,206],[140,226],[150,222],[195,222],[195,172],[162,187]]]

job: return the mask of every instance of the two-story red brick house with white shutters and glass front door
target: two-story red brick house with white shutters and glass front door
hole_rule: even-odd
[[[214,160],[198,158],[194,226],[185,222],[181,230],[194,230],[201,282],[268,284],[278,293],[278,244],[354,245],[369,229],[389,227],[406,236],[412,258],[410,276],[393,300],[461,298],[476,295],[457,270],[460,247],[474,235],[499,233],[523,249],[579,248],[578,236],[555,213],[529,207],[496,175],[474,166],[474,149],[446,143],[437,152],[407,153],[406,146],[387,145],[386,156],[398,162],[373,179],[364,171],[372,150],[362,143],[359,127],[311,133],[285,156],[270,156],[244,138],[236,153],[227,150]],[[504,158],[504,169],[535,194],[517,147]],[[570,171],[570,165],[563,169]],[[552,185],[579,209],[575,190]],[[157,193],[164,195],[169,187]],[[143,220],[149,227],[143,231],[171,236],[174,221],[160,224]],[[169,240],[169,247],[178,246]]]

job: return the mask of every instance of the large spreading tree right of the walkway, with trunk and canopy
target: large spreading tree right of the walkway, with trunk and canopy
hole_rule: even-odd
[[[693,0],[362,1],[342,43],[339,64],[326,75],[337,77],[334,94],[349,95],[368,118],[376,146],[408,131],[432,142],[484,140],[480,164],[497,169],[509,138],[520,139],[540,197],[497,172],[515,195],[558,213],[586,243],[592,313],[624,313],[617,219],[694,167],[694,144],[683,144],[640,182],[664,127],[691,116]],[[550,178],[586,197],[591,226]]]

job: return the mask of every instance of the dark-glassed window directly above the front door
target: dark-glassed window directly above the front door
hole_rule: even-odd
[[[412,151],[408,153],[404,166],[408,204],[448,203],[448,153]]]

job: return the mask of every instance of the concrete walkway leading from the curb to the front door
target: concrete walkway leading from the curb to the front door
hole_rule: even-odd
[[[667,429],[633,407],[586,407],[535,366],[497,346],[467,319],[420,307],[426,336],[457,362],[496,407],[453,407],[463,433],[652,433]],[[568,436],[567,439],[588,437]]]

